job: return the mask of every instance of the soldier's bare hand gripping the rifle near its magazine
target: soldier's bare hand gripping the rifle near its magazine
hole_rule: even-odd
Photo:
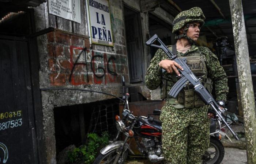
[[[167,73],[172,74],[174,71],[178,76],[180,76],[180,72],[177,67],[183,71],[183,68],[173,60],[161,60],[161,62],[159,62],[159,67],[165,69]]]

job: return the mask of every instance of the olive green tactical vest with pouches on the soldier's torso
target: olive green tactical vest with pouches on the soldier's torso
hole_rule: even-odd
[[[172,51],[172,46],[168,46]],[[201,78],[201,82],[206,87],[206,89],[211,93],[212,91],[212,81],[210,78],[207,78],[207,69],[206,69],[206,58],[199,50],[195,51],[191,56],[181,56],[180,53],[177,53],[178,58],[187,58],[187,65],[191,71],[196,75],[197,78]],[[187,85],[180,91],[176,100],[173,99],[170,95],[167,95],[172,86],[178,81],[177,75],[175,73],[163,74],[163,82],[161,87],[161,99],[172,99],[171,103],[174,107],[177,108],[195,108],[204,106],[204,102],[201,98],[194,92],[193,85],[187,83]]]

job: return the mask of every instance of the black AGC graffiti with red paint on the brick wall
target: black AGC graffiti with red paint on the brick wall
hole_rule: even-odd
[[[75,60],[75,63],[73,62],[73,51],[77,49],[80,50],[80,53],[78,57]],[[82,51],[81,51],[82,50]],[[93,80],[95,84],[101,84],[103,83],[103,78],[105,78],[105,84],[107,84],[107,81],[109,82],[115,82],[116,81],[116,76],[117,76],[117,68],[116,68],[116,58],[114,56],[107,56],[107,54],[101,54],[101,53],[96,53],[94,55],[94,51],[91,50],[86,50],[86,48],[82,47],[75,47],[71,46],[70,47],[70,65],[71,65],[71,74],[69,75],[69,82],[72,85],[82,85],[84,84],[83,82],[75,82],[74,78],[74,70],[75,67],[78,65],[82,65],[86,67],[86,79],[87,83],[89,82],[89,73],[88,73],[88,67],[87,67],[87,57],[90,57],[88,54],[91,54],[91,59],[90,59],[90,67],[93,72]],[[83,58],[82,58],[83,54]],[[88,56],[87,56],[88,55]],[[81,62],[82,60],[84,62]]]

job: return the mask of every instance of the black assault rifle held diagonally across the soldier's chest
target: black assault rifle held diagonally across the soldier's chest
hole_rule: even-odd
[[[158,41],[160,45],[153,44],[155,41]],[[220,106],[217,104],[217,102],[214,100],[214,98],[211,96],[211,94],[206,90],[206,88],[202,85],[202,83],[197,79],[197,77],[192,73],[192,71],[189,69],[187,65],[186,58],[177,58],[177,55],[174,55],[169,48],[166,47],[166,45],[160,40],[155,34],[152,38],[150,38],[146,42],[147,46],[157,47],[161,48],[166,55],[176,63],[178,63],[184,70],[178,69],[178,71],[181,73],[181,78],[173,85],[172,89],[169,91],[169,95],[176,98],[178,93],[183,89],[184,86],[186,86],[187,81],[189,81],[195,89],[195,92],[200,96],[202,101],[205,105],[210,105],[211,108],[215,111],[215,113],[218,116],[218,119],[223,122],[229,128],[230,132],[233,134],[233,136],[236,138],[236,140],[239,140],[236,133],[233,132],[233,130],[230,128],[230,126],[227,124],[221,113],[224,113],[226,109],[221,109]],[[162,69],[164,72],[165,70]],[[218,109],[218,110],[217,110]]]

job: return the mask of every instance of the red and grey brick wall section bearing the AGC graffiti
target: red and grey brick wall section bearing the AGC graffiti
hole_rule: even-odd
[[[50,86],[120,83],[121,75],[128,80],[127,55],[122,44],[125,42],[119,42],[115,48],[90,48],[89,38],[53,31],[47,34],[47,53],[41,58],[47,60],[48,68],[42,70],[49,75]]]

